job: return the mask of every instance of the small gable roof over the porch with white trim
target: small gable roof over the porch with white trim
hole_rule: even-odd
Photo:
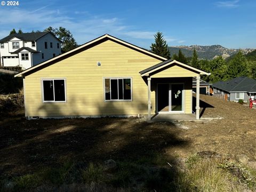
[[[201,69],[197,69],[197,68],[195,68],[195,67],[189,66],[189,65],[187,65],[187,64],[185,64],[185,63],[182,63],[182,62],[179,62],[179,61],[176,61],[176,60],[173,60],[173,59],[169,59],[169,60],[163,61],[163,62],[158,63],[158,64],[156,64],[156,65],[154,65],[154,66],[151,66],[151,67],[149,67],[149,68],[147,68],[147,69],[144,69],[144,70],[140,71],[140,75],[141,75],[141,76],[148,75],[148,74],[150,74],[150,73],[152,73],[152,72],[154,72],[154,71],[156,71],[156,70],[158,70],[158,69],[161,69],[161,68],[163,68],[163,67],[172,65],[172,64],[174,64],[174,63],[176,63],[176,64],[178,64],[178,65],[181,65],[181,66],[183,66],[183,67],[189,68],[189,69],[191,69],[191,70],[197,71],[197,72],[198,72],[199,74],[201,74],[201,75],[210,75],[210,73],[206,73],[205,71],[203,71],[203,70],[201,70]]]

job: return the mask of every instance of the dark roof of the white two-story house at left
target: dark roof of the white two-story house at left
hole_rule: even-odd
[[[8,35],[7,37],[4,37],[4,38],[0,39],[0,43],[7,42],[10,39],[12,39],[13,37],[19,38],[19,39],[21,39],[23,41],[36,41],[37,39],[43,37],[47,33],[51,33],[51,32],[48,31],[48,32],[33,32],[33,33],[11,34],[11,35]],[[57,38],[57,37],[55,37],[55,38]]]

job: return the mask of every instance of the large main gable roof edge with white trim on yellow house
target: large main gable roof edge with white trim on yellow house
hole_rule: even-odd
[[[52,65],[52,64],[54,64],[54,63],[57,62],[57,61],[60,61],[60,60],[62,60],[62,59],[65,59],[65,58],[69,57],[69,55],[71,55],[71,54],[77,53],[77,52],[79,52],[79,51],[83,51],[83,50],[85,50],[86,48],[90,48],[90,47],[92,47],[92,46],[97,45],[97,43],[99,44],[99,43],[101,43],[102,41],[107,41],[107,40],[111,40],[111,41],[114,41],[114,42],[116,42],[116,43],[125,45],[125,46],[127,46],[127,47],[130,47],[131,49],[134,49],[134,50],[136,50],[136,51],[139,51],[139,52],[142,52],[142,53],[144,53],[144,54],[150,55],[151,57],[157,58],[157,59],[159,59],[159,60],[162,60],[162,61],[167,60],[166,58],[161,57],[161,56],[159,56],[159,55],[157,55],[157,54],[155,54],[155,53],[152,53],[152,52],[150,52],[150,51],[148,51],[148,50],[146,50],[146,49],[142,49],[141,47],[138,47],[138,46],[133,45],[133,44],[131,44],[131,43],[127,43],[127,42],[125,42],[125,41],[123,41],[123,40],[121,40],[121,39],[118,39],[118,38],[116,38],[116,37],[113,37],[113,36],[111,36],[111,35],[105,34],[105,35],[102,35],[102,36],[100,36],[100,37],[98,37],[98,38],[93,39],[93,40],[90,41],[90,42],[87,42],[87,43],[85,43],[85,44],[83,44],[83,45],[80,45],[80,46],[76,47],[76,48],[73,49],[73,50],[70,50],[70,51],[68,51],[68,52],[66,52],[66,53],[63,53],[63,54],[58,55],[57,57],[54,57],[54,58],[52,58],[52,59],[49,59],[49,60],[44,61],[44,62],[42,62],[42,63],[39,63],[38,65],[36,65],[36,66],[34,66],[34,67],[30,67],[30,68],[28,68],[28,69],[26,69],[26,70],[23,70],[23,71],[21,71],[20,73],[16,74],[14,77],[18,77],[18,76],[25,75],[25,74],[28,73],[29,71],[30,71],[30,73],[34,73],[36,70],[40,70],[40,69],[46,67],[47,65]]]

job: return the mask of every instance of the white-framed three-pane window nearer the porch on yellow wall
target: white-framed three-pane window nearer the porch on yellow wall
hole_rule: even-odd
[[[105,101],[132,100],[131,78],[105,78]]]

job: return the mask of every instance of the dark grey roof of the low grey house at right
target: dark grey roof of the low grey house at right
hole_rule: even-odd
[[[213,87],[227,92],[256,92],[256,80],[249,77],[236,77],[229,81],[219,81]]]

